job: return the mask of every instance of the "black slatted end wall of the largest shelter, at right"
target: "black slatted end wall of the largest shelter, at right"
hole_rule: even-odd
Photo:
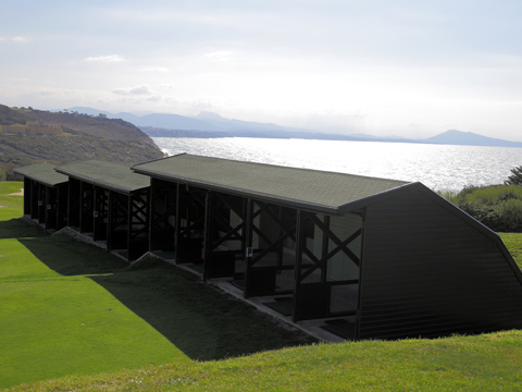
[[[420,191],[369,206],[359,339],[522,328],[522,285],[499,246]]]

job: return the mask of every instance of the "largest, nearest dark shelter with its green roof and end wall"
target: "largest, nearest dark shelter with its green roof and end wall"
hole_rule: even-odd
[[[293,321],[352,338],[522,328],[522,275],[500,237],[420,183],[179,155],[151,179],[150,249],[229,279]]]

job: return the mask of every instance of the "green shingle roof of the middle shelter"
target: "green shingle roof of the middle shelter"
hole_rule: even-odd
[[[128,167],[112,162],[89,160],[63,164],[55,170],[70,177],[126,194],[150,185],[150,177],[136,174]]]

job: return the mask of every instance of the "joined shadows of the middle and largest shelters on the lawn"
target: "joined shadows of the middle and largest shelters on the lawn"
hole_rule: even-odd
[[[315,342],[161,259],[149,257],[128,265],[64,235],[18,241],[60,274],[91,274],[89,279],[192,359],[222,359]]]

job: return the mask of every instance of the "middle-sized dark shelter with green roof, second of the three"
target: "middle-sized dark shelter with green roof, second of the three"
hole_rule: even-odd
[[[150,179],[129,168],[98,160],[55,170],[69,177],[69,226],[105,242],[128,261],[149,248]]]

